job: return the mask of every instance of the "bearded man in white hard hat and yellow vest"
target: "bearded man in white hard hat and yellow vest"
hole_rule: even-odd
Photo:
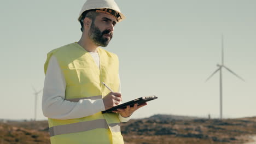
[[[81,39],[48,53],[42,109],[51,143],[124,143],[120,122],[147,105],[101,113],[120,104],[122,97],[118,57],[98,46],[108,45],[114,26],[124,19],[113,0],[88,0],[78,19]]]

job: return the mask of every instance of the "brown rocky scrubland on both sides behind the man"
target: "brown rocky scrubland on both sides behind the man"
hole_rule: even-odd
[[[202,119],[154,115],[121,124],[126,144],[247,143],[256,135],[256,117]],[[50,143],[47,121],[0,122],[0,143]]]

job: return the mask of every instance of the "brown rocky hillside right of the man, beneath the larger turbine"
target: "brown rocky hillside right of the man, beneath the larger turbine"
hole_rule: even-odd
[[[122,133],[131,143],[244,143],[256,135],[256,117],[242,119],[145,118],[122,123]]]

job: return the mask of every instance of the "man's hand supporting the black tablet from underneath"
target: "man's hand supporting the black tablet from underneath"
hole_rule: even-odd
[[[147,105],[147,103],[142,103],[142,104],[134,104],[133,107],[130,107],[130,105],[126,106],[126,109],[117,109],[112,112],[120,113],[122,117],[130,117],[133,112],[141,108],[142,106]]]

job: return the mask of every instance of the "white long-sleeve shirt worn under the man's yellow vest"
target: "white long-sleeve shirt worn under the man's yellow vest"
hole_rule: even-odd
[[[100,57],[97,52],[90,52],[95,63],[100,68]],[[65,100],[66,81],[55,56],[49,60],[44,80],[42,109],[45,117],[54,119],[73,119],[93,115],[104,111],[102,99],[81,99],[78,102]],[[120,92],[120,86],[119,86]],[[127,122],[130,117],[122,117],[121,122]]]

